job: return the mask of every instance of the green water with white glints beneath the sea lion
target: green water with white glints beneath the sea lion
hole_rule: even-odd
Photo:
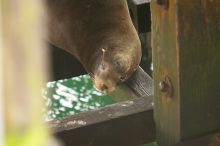
[[[64,118],[114,103],[111,96],[97,91],[88,75],[48,82],[43,91],[46,121]]]

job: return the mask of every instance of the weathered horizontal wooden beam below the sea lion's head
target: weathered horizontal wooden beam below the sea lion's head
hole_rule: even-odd
[[[138,146],[155,141],[153,97],[116,103],[49,123],[66,146]]]

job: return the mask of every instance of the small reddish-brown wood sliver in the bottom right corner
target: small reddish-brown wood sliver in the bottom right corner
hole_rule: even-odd
[[[220,133],[180,142],[175,146],[220,146]]]

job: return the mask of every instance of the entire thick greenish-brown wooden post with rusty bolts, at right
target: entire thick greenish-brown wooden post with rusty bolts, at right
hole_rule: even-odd
[[[158,145],[220,130],[220,1],[155,0],[151,10]]]

